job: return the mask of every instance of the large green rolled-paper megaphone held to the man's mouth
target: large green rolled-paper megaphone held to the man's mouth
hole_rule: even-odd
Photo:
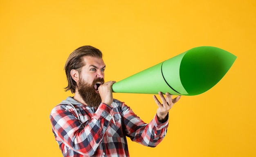
[[[217,47],[190,49],[112,85],[115,93],[198,95],[215,86],[236,56]]]

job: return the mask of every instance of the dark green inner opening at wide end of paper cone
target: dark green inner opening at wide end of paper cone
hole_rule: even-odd
[[[189,95],[198,95],[216,85],[230,69],[236,56],[210,46],[189,50],[180,64],[180,80]]]

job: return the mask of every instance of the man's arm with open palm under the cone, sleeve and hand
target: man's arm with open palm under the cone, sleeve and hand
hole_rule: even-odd
[[[155,147],[165,137],[168,127],[168,111],[171,109],[173,104],[180,99],[180,96],[174,100],[172,100],[172,95],[170,94],[167,94],[166,98],[164,98],[162,93],[159,93],[159,96],[163,101],[163,105],[157,104],[159,106],[157,114],[148,124],[144,123],[139,117],[137,117],[130,107],[125,104],[122,105],[122,117],[125,125],[125,131],[132,141],[145,146]],[[154,99],[157,103],[160,103],[155,96]]]

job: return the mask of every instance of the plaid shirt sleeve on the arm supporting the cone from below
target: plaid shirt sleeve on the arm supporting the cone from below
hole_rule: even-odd
[[[168,127],[168,119],[161,123],[157,115],[146,124],[143,122],[130,107],[122,104],[122,117],[125,126],[125,132],[132,141],[149,147],[157,146],[165,137]],[[168,117],[169,118],[169,117]]]

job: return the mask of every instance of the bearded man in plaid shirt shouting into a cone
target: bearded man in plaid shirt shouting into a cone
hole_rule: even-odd
[[[166,135],[168,111],[180,96],[172,99],[154,95],[157,114],[144,123],[124,102],[113,99],[112,84],[104,83],[106,65],[99,49],[81,46],[67,59],[66,91],[74,97],[52,109],[50,120],[55,139],[64,157],[129,157],[126,136],[145,146],[155,147]]]

